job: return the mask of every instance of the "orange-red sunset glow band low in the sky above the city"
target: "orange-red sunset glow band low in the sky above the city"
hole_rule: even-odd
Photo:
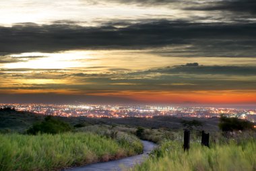
[[[95,95],[95,94],[94,94]],[[133,100],[162,104],[251,104],[256,102],[256,91],[195,91],[195,92],[118,92],[98,96],[131,97]]]

